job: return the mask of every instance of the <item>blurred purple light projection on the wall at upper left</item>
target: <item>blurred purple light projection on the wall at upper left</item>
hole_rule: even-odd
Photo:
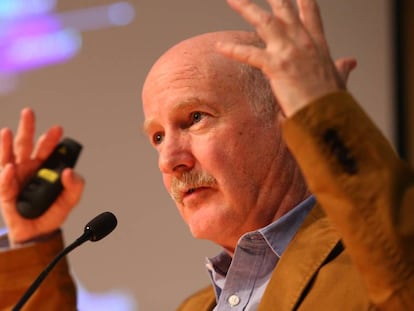
[[[73,58],[82,31],[124,26],[135,17],[128,2],[64,13],[55,8],[56,0],[0,1],[0,94],[10,91],[18,73]]]

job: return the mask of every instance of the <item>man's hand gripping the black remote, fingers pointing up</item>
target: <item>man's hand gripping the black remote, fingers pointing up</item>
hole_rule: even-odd
[[[60,142],[63,129],[60,126],[49,128],[36,143],[34,133],[35,115],[30,108],[21,111],[14,141],[9,128],[0,130],[0,210],[11,244],[24,243],[60,228],[79,202],[85,185],[80,175],[67,168],[61,177],[63,191],[53,205],[38,218],[20,216],[16,209],[17,196]]]

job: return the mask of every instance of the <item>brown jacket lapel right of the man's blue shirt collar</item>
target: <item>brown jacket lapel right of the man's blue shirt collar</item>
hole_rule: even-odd
[[[316,205],[280,258],[258,311],[293,310],[339,241],[338,233]]]

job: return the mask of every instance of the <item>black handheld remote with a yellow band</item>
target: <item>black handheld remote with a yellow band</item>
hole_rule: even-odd
[[[52,205],[61,193],[62,171],[73,168],[82,145],[71,138],[63,139],[46,161],[24,185],[17,198],[17,210],[25,218],[37,218]]]

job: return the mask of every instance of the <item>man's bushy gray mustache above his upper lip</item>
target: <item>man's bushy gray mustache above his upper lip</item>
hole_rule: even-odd
[[[183,202],[183,194],[191,188],[210,187],[217,184],[216,179],[205,172],[189,171],[171,180],[170,195],[177,203]]]

